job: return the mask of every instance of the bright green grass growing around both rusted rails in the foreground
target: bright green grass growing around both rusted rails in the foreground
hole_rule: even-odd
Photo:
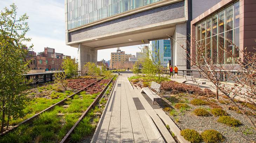
[[[28,101],[24,109],[24,113],[27,114],[26,118],[57,103],[70,94],[72,94],[72,91],[66,91],[65,93],[54,92],[51,95],[53,99],[37,98]],[[74,96],[74,100],[68,98],[67,101],[65,101],[65,104],[69,105],[67,108],[63,108],[62,105],[55,106],[52,111],[42,113],[30,125],[21,125],[15,129],[15,131],[2,136],[0,143],[60,142],[67,134],[68,130],[72,128],[74,123],[80,118],[81,113],[89,107],[99,93],[88,95],[86,92],[81,92],[80,95],[83,96],[82,99],[80,99],[78,95]],[[55,97],[59,98],[55,99]],[[105,99],[101,101],[101,103],[106,102]],[[100,112],[100,109],[95,107],[87,114],[82,122],[79,123],[71,136],[71,142],[77,142],[81,140],[82,137],[94,132],[95,126],[91,125],[91,123],[99,122],[99,117],[96,117],[94,112]],[[58,116],[56,115],[57,113],[65,113],[65,115]],[[23,120],[24,119],[13,120],[16,122],[11,122],[14,124]]]

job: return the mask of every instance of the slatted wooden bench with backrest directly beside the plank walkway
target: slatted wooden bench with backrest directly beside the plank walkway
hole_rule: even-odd
[[[154,89],[156,91],[156,93],[148,87],[142,88],[141,93],[146,93],[146,95],[148,95],[148,97],[152,100],[152,104],[154,104],[157,101],[161,101],[161,97],[158,96],[158,94],[160,92],[160,87],[161,87],[160,84],[158,84],[156,82],[151,82],[150,88]]]

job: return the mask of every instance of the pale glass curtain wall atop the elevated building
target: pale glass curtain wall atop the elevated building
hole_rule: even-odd
[[[68,29],[161,0],[67,0]]]

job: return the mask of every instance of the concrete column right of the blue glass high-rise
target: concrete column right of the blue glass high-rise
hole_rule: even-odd
[[[173,51],[172,51],[172,61],[173,66],[177,66],[178,69],[187,69],[187,24],[180,23],[176,24],[175,31],[173,34]],[[183,45],[183,47],[181,47]]]

